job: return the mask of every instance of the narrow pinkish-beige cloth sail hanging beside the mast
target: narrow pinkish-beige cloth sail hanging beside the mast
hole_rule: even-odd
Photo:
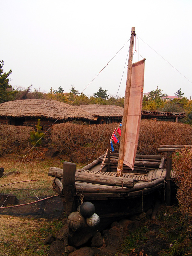
[[[141,122],[141,108],[144,84],[144,61],[145,59],[132,64],[131,89],[123,161],[124,164],[132,169],[135,162]]]

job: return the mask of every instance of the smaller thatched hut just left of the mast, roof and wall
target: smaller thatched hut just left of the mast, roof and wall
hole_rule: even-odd
[[[123,108],[116,105],[80,105],[78,108],[84,109],[95,117],[98,124],[119,122],[123,117]]]

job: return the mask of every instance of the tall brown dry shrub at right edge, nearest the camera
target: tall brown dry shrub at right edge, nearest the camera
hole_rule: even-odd
[[[172,157],[181,220],[187,223],[187,229],[192,232],[192,149],[182,149]]]

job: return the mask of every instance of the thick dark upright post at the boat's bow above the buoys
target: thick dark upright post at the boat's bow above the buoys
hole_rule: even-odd
[[[76,164],[70,162],[63,163],[63,194],[65,196],[65,213],[67,217],[71,212],[76,211],[74,196],[75,188],[75,170]]]

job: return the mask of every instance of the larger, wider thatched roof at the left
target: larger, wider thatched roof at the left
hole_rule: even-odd
[[[33,117],[52,120],[88,119],[94,117],[84,109],[57,100],[15,100],[0,104],[1,117]]]

